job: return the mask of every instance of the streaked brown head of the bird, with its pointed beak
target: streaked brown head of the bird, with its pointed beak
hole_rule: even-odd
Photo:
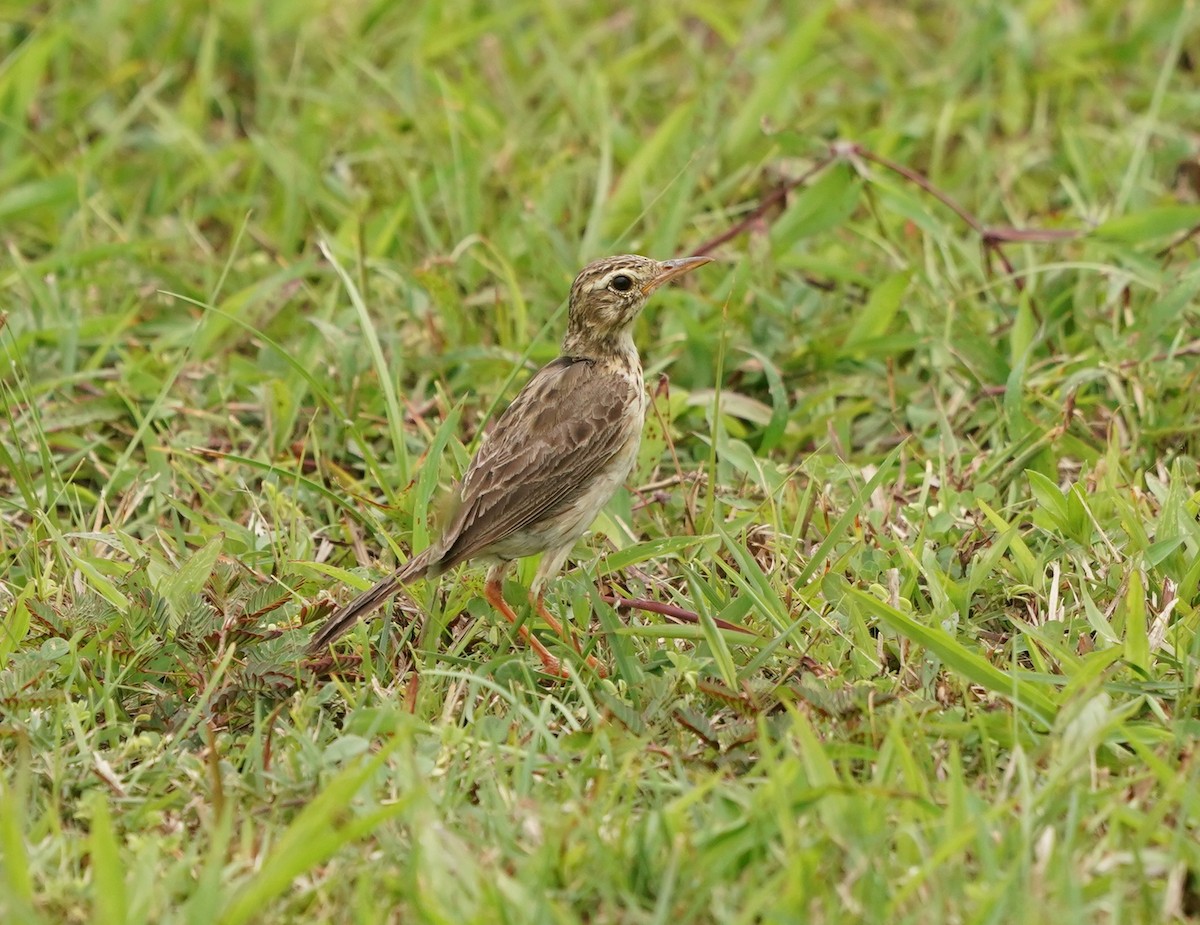
[[[631,349],[634,322],[650,294],[677,276],[712,263],[712,257],[652,260],[638,254],[606,257],[589,263],[571,286],[563,353],[587,356]]]

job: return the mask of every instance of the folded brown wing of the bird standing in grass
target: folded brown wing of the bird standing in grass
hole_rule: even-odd
[[[641,388],[640,377],[592,360],[560,356],[544,366],[472,460],[438,571],[570,505],[629,440],[629,408]]]

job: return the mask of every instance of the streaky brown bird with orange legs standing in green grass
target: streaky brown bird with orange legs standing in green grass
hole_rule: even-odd
[[[571,284],[559,356],[526,383],[485,432],[439,539],[331,613],[310,642],[310,654],[328,650],[402,585],[480,560],[490,564],[488,603],[517,627],[547,674],[568,677],[504,600],[504,576],[516,559],[542,553],[529,602],[566,639],[546,608],[546,587],[629,476],[641,443],[646,384],[634,323],[655,289],[712,260],[622,254],[584,266]],[[587,662],[604,674],[594,657]]]

